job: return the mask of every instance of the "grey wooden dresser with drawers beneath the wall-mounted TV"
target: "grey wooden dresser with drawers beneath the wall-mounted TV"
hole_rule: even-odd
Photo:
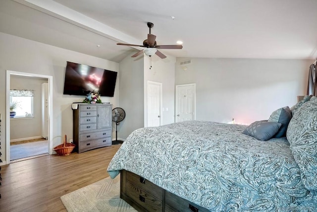
[[[78,153],[110,146],[111,104],[78,104],[73,108],[73,143]]]

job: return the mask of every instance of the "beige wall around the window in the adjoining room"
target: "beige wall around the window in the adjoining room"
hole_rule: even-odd
[[[47,79],[11,75],[10,89],[34,90],[33,118],[10,119],[10,140],[42,137],[42,83]]]

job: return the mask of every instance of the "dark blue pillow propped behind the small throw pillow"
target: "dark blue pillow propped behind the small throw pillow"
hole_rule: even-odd
[[[281,123],[282,126],[278,130],[278,132],[274,135],[274,138],[282,138],[286,136],[286,130],[292,118],[292,111],[288,106],[279,108],[275,110],[269,119],[268,122],[278,122]]]

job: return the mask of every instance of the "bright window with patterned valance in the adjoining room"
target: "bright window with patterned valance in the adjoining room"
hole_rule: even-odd
[[[33,90],[10,90],[10,110],[15,118],[33,117]]]

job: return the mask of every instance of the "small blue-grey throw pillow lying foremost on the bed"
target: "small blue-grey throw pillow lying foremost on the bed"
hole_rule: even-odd
[[[261,141],[267,141],[277,133],[281,125],[278,122],[256,121],[249,125],[242,133]]]

